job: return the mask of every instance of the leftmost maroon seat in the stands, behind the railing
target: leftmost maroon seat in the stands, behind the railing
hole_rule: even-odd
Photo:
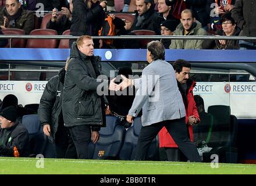
[[[25,31],[18,28],[5,28],[2,29],[2,33],[5,35],[25,35]],[[12,39],[11,48],[24,48],[25,46],[26,40]],[[10,47],[10,40],[8,40],[8,44],[5,47]]]

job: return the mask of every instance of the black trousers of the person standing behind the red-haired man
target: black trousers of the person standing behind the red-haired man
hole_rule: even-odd
[[[55,157],[77,159],[76,147],[69,133],[69,128],[59,124],[55,134]]]

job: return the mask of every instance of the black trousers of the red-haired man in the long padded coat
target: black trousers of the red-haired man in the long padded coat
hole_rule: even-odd
[[[88,159],[88,146],[91,141],[91,127],[88,125],[69,127],[71,137],[76,146],[78,159]]]

